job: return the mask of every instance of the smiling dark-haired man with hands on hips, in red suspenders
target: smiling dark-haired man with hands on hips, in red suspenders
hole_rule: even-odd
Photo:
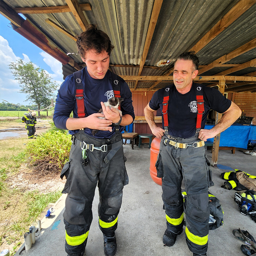
[[[146,120],[157,138],[162,138],[156,162],[157,176],[162,178],[167,229],[163,243],[172,246],[183,231],[184,179],[186,200],[185,236],[193,256],[206,255],[208,246],[208,186],[213,183],[207,167],[204,141],[227,129],[241,115],[234,102],[218,90],[193,82],[199,60],[193,52],[180,54],[174,64],[173,83],[159,89],[144,109]],[[162,110],[163,128],[154,122]],[[211,130],[204,129],[210,109],[223,113]]]

